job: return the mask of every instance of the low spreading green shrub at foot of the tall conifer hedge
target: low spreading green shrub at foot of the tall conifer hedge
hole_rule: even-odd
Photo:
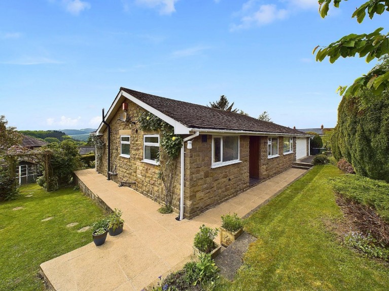
[[[358,175],[342,175],[332,180],[334,191],[360,204],[373,207],[389,223],[389,184]]]

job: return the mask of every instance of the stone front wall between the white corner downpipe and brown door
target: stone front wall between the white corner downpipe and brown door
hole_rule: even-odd
[[[192,140],[192,149],[185,149],[186,218],[198,215],[249,186],[249,141],[249,136],[240,136],[241,162],[212,169],[212,136],[207,135],[206,142],[202,142],[201,135]]]

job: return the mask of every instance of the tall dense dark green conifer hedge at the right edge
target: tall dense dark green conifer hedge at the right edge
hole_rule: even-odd
[[[357,174],[389,182],[389,91],[343,98],[331,145],[335,158],[344,157]]]

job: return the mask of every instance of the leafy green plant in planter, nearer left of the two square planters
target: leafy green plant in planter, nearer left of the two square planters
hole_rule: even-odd
[[[222,246],[217,244],[214,239],[219,229],[200,226],[200,231],[196,233],[193,242],[194,254],[199,256],[200,253],[210,254],[211,258],[216,258],[221,251]]]

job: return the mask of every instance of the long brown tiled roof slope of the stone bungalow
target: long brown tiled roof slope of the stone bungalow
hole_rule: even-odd
[[[159,97],[123,87],[120,90],[127,92],[136,99],[150,105],[188,128],[296,135],[305,134],[273,122],[261,121],[239,113]]]

